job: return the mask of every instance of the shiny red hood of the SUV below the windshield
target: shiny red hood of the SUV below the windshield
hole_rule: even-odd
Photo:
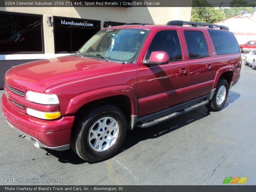
[[[122,67],[122,63],[68,55],[13,67],[6,72],[5,81],[21,89],[44,92],[53,85],[119,71]]]

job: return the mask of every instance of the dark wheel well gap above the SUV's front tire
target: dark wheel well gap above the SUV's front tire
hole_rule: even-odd
[[[80,113],[81,110],[86,110],[85,108],[91,108],[91,107],[93,108],[93,106],[104,104],[104,103],[111,103],[118,106],[119,108],[122,109],[128,121],[131,118],[131,102],[129,97],[125,95],[116,95],[112,97],[106,97],[103,99],[86,103],[81,108],[79,108],[79,110],[76,113]]]

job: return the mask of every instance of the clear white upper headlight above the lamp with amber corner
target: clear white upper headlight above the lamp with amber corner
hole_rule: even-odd
[[[36,93],[32,91],[26,92],[26,99],[35,103],[40,103],[44,105],[54,105],[59,104],[59,99],[55,94],[44,94]]]

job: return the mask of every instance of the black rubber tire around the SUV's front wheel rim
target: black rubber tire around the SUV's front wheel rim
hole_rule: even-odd
[[[101,104],[85,110],[88,113],[82,113],[75,119],[71,135],[71,148],[85,161],[95,163],[112,156],[120,148],[126,136],[127,120],[123,111],[112,104]],[[89,144],[89,131],[95,122],[107,116],[116,120],[119,126],[118,136],[115,143],[107,150],[95,151]]]

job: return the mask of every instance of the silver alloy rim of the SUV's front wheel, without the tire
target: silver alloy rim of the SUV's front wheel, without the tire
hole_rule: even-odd
[[[88,141],[94,151],[109,149],[118,137],[119,125],[112,117],[97,120],[90,128]]]

